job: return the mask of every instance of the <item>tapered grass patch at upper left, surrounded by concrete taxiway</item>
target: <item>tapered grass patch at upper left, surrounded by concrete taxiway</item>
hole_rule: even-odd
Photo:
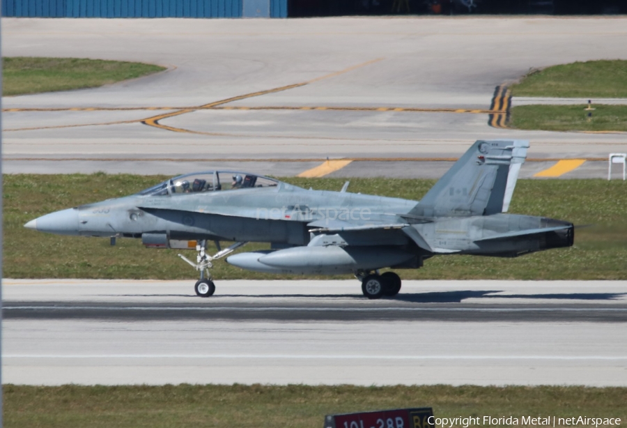
[[[2,61],[3,96],[94,88],[165,70],[152,64],[102,59],[16,56]]]

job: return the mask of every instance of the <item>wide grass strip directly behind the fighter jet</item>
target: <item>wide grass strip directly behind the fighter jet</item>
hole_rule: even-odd
[[[137,239],[56,236],[23,225],[45,213],[121,197],[163,181],[165,176],[125,174],[4,176],[3,276],[10,278],[104,278],[192,280],[196,272],[176,254],[146,249]],[[339,178],[285,178],[319,190],[339,190]],[[351,192],[419,200],[433,180],[356,178]],[[627,280],[627,197],[623,181],[519,180],[511,213],[543,215],[575,224],[593,224],[575,232],[569,248],[527,254],[516,259],[437,256],[423,268],[398,270],[403,279]],[[240,252],[267,248],[249,243]],[[211,251],[211,250],[210,250]],[[193,253],[190,252],[190,256]],[[217,280],[300,279],[300,275],[255,273],[219,260]],[[330,277],[320,277],[330,278]],[[349,275],[337,278],[350,278]]]

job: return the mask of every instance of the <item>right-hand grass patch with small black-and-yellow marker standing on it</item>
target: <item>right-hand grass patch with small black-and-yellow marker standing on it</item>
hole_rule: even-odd
[[[627,131],[627,105],[520,105],[511,128],[545,131]],[[589,116],[591,114],[591,116]]]

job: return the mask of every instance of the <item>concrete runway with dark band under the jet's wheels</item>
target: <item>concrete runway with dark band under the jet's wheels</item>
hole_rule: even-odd
[[[627,385],[627,282],[4,280],[3,381]]]

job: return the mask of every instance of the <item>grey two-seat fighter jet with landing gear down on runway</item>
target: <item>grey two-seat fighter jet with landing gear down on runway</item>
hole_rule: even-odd
[[[304,189],[238,171],[171,178],[137,194],[56,211],[25,227],[52,234],[141,238],[146,247],[196,250],[194,289],[215,292],[212,262],[247,242],[270,250],[226,259],[258,272],[353,273],[371,299],[395,296],[401,278],[451,254],[517,257],[573,245],[570,222],[506,214],[529,143],[477,141],[420,201]],[[217,254],[207,254],[214,241]],[[220,243],[235,242],[222,249]]]

